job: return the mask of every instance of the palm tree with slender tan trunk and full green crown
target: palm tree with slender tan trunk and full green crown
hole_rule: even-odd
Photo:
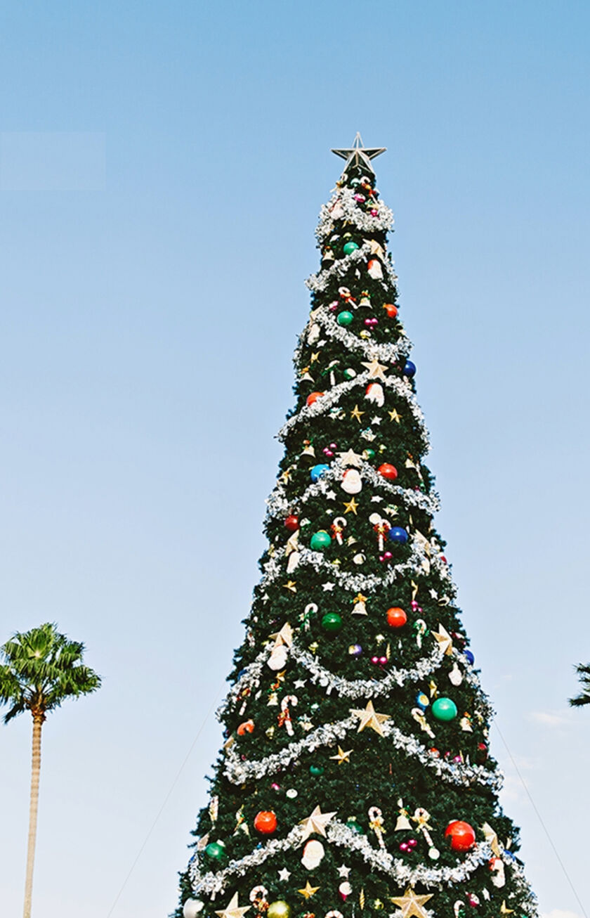
[[[27,879],[23,918],[30,918],[37,839],[41,727],[48,711],[66,698],[79,698],[100,688],[100,676],[83,665],[84,645],[68,641],[51,622],[16,633],[0,647],[0,705],[10,705],[4,722],[23,711],[33,718],[33,761],[28,811]]]

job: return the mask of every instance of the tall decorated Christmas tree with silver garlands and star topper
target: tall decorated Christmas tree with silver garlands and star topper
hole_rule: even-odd
[[[357,135],[333,152],[346,164],[317,227],[262,580],[175,914],[532,916],[433,525],[383,150]]]

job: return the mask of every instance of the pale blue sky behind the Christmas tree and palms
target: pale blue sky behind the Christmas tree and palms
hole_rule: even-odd
[[[484,688],[590,907],[590,6],[0,3],[0,621],[85,641],[45,727],[34,912],[163,918],[220,732],[329,153],[386,146],[439,528]],[[0,729],[19,914],[30,723]],[[581,916],[497,733],[551,918]]]

